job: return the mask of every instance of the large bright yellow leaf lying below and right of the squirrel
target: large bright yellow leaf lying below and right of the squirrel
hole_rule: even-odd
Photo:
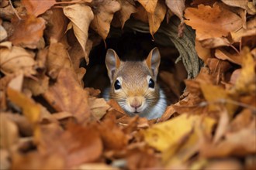
[[[177,144],[189,131],[192,131],[195,124],[201,124],[204,131],[209,133],[214,123],[215,121],[209,117],[200,119],[198,115],[182,114],[170,121],[155,124],[152,128],[144,131],[144,137],[148,145],[159,151],[165,151],[171,145]],[[195,133],[198,133],[196,129]]]

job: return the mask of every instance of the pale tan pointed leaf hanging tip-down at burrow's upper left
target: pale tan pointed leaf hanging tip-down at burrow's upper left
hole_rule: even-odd
[[[89,6],[81,4],[69,5],[64,7],[64,15],[71,20],[68,27],[73,28],[74,35],[78,39],[78,42],[85,53],[88,29],[92,19],[94,18],[92,9]]]

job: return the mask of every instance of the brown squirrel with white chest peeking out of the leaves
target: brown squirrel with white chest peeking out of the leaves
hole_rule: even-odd
[[[113,49],[108,49],[106,68],[111,86],[103,97],[116,100],[131,117],[161,117],[167,100],[156,83],[160,60],[157,47],[143,61],[122,61]]]

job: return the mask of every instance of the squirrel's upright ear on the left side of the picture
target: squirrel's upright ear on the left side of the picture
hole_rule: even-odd
[[[120,59],[114,49],[108,49],[106,53],[105,63],[108,70],[109,79],[112,82],[115,70],[118,69],[120,66]]]

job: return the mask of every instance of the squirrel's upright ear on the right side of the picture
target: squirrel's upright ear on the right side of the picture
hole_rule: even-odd
[[[153,71],[154,76],[157,76],[160,60],[161,56],[157,47],[150,51],[150,53],[147,56],[147,59],[145,60],[148,68]]]

